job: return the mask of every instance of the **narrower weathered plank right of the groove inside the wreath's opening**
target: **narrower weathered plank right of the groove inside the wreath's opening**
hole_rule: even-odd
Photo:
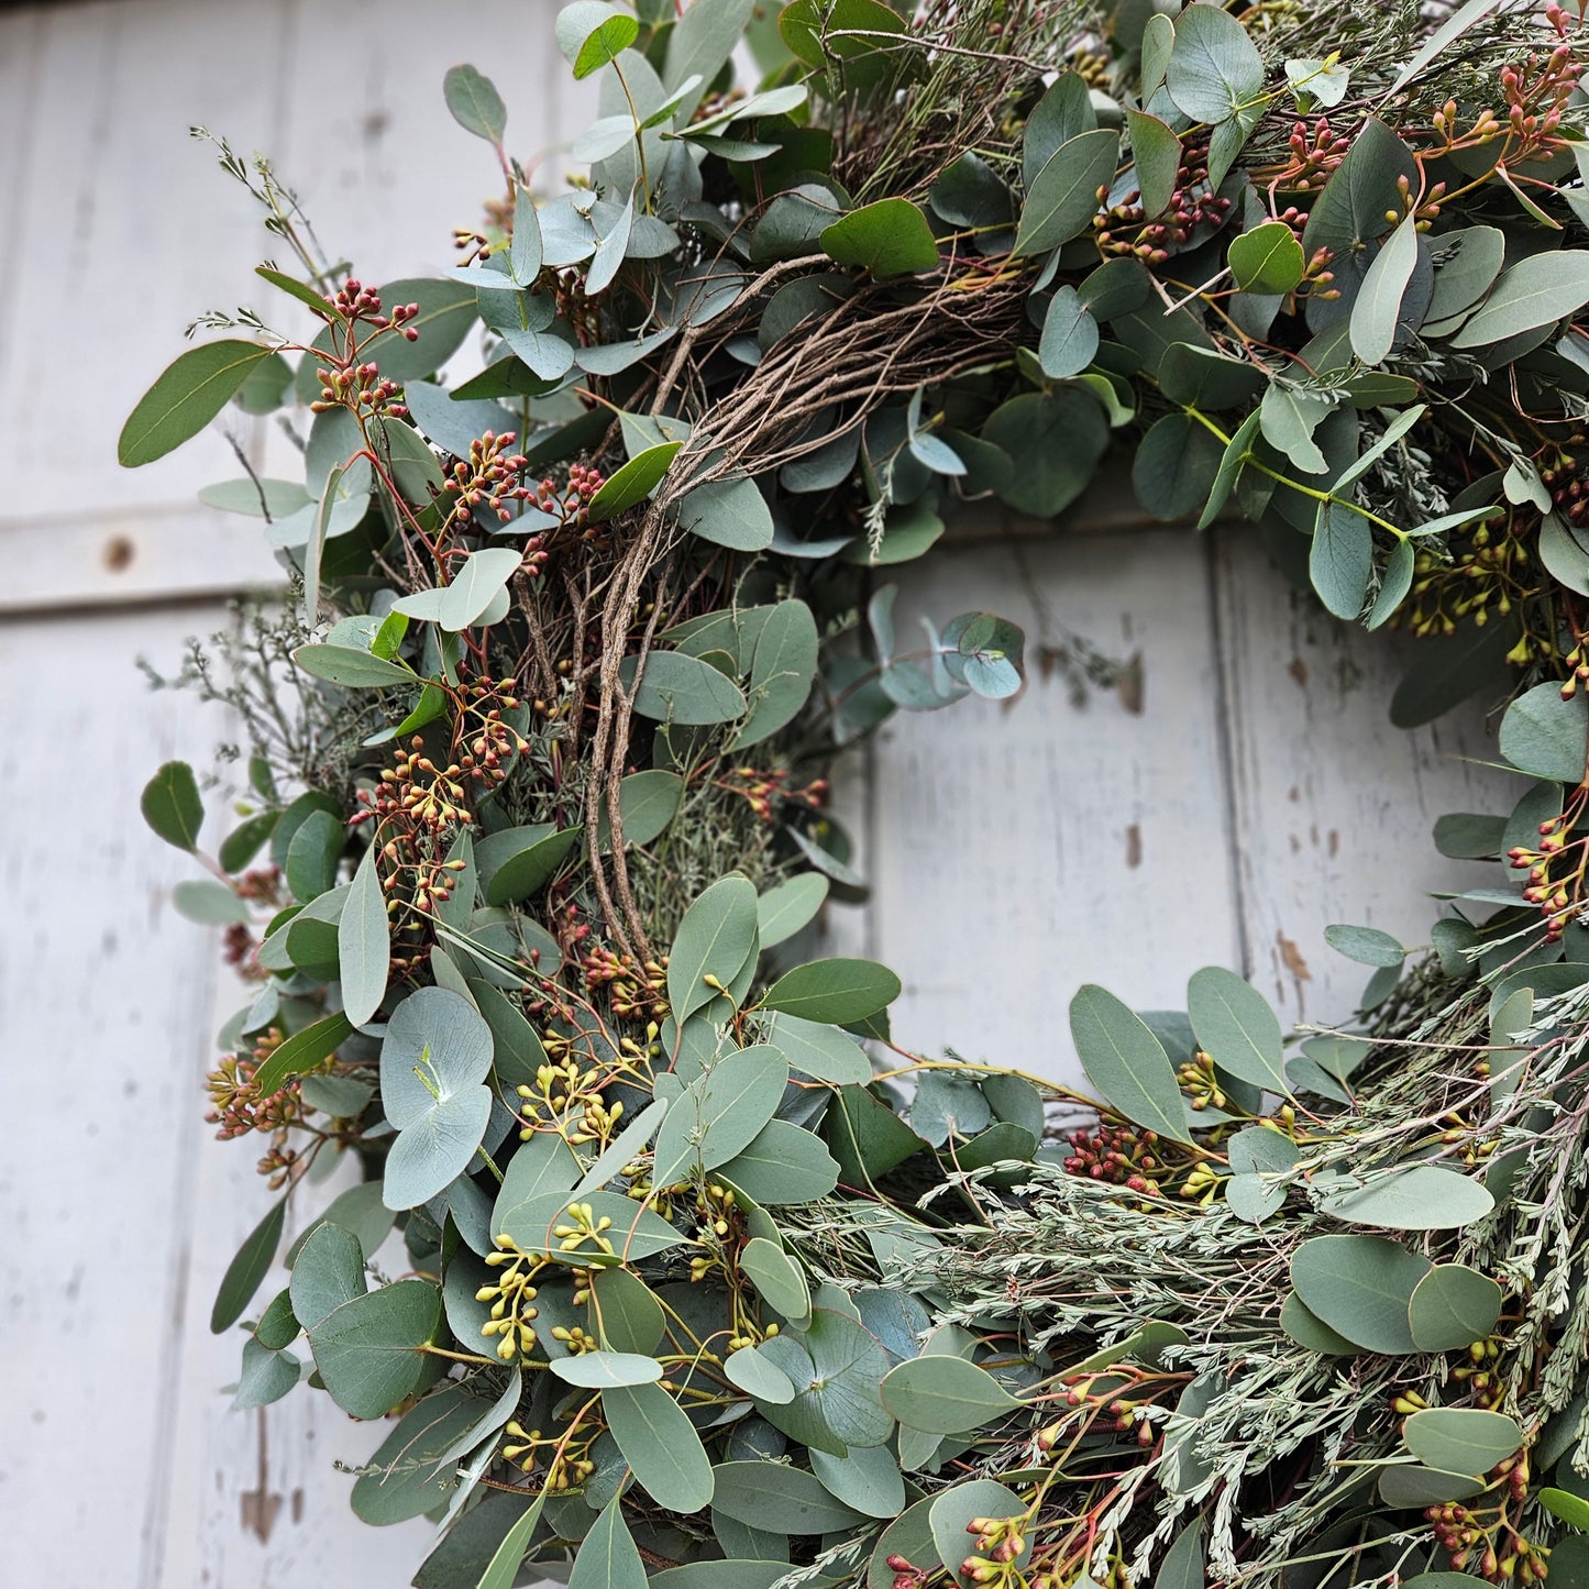
[[[1284,1020],[1343,1022],[1370,972],[1328,949],[1325,926],[1427,944],[1427,890],[1497,879],[1441,856],[1435,818],[1510,810],[1521,780],[1478,764],[1494,742],[1476,704],[1414,733],[1390,723],[1395,636],[1325,615],[1246,526],[1216,545],[1246,969]]]

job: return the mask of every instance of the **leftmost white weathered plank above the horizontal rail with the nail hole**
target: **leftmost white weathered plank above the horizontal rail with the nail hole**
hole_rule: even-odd
[[[195,485],[237,474],[218,429],[140,470],[118,466],[114,442],[194,313],[261,296],[249,269],[272,249],[254,205],[188,127],[213,122],[245,153],[269,143],[288,14],[202,0],[46,13],[44,119],[21,213],[6,216],[30,240],[11,303],[27,334],[0,343],[0,434],[19,466],[8,516],[188,502]],[[234,429],[246,440],[253,426]]]

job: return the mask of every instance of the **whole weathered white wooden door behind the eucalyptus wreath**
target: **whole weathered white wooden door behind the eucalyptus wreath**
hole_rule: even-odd
[[[267,1198],[246,1146],[200,1119],[234,999],[218,944],[173,917],[192,872],[137,794],[167,756],[203,764],[229,725],[151,694],[133,658],[175,664],[273,566],[246,524],[194,507],[235,474],[222,439],[137,474],[114,439],[195,310],[264,296],[249,269],[272,240],[189,122],[272,151],[326,246],[359,245],[356,269],[435,270],[494,184],[442,72],[496,76],[516,149],[577,130],[553,13],[0,13],[0,1583],[394,1586],[423,1554],[426,1524],[377,1533],[346,1511],[334,1463],[380,1427],[326,1397],[245,1414],[219,1394],[238,1343],[210,1335],[210,1301]],[[280,445],[264,424],[238,440]],[[1387,725],[1389,648],[1287,591],[1241,528],[972,540],[903,583],[903,605],[1014,617],[1034,655],[1060,626],[1141,653],[1127,696],[1077,707],[1034,669],[1012,704],[901,718],[852,758],[842,804],[876,895],[831,934],[899,969],[896,1031],[920,1050],[1073,1077],[1079,982],[1173,1006],[1209,961],[1289,1017],[1341,1017],[1360,977],[1324,926],[1416,939],[1409,877],[1462,876],[1430,822],[1505,798],[1462,761],[1471,720]]]

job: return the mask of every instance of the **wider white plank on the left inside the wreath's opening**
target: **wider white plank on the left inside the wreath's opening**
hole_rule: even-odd
[[[906,982],[896,1039],[1074,1084],[1079,984],[1176,1007],[1238,953],[1208,542],[952,547],[899,583],[901,636],[906,610],[1020,623],[1030,683],[901,712],[872,753],[869,941]],[[1139,656],[1138,685],[1077,706],[1044,666],[1066,632]]]

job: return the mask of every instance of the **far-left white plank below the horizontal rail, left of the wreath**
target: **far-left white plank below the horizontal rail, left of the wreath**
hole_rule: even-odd
[[[89,1572],[138,1584],[157,1551],[149,1479],[183,1373],[189,1249],[210,1239],[189,1165],[215,958],[170,906],[194,863],[145,828],[138,788],[162,760],[202,756],[224,720],[189,694],[151,694],[132,658],[175,651],[192,621],[0,624],[13,744],[0,763],[0,1316],[13,1365],[0,1583]]]

